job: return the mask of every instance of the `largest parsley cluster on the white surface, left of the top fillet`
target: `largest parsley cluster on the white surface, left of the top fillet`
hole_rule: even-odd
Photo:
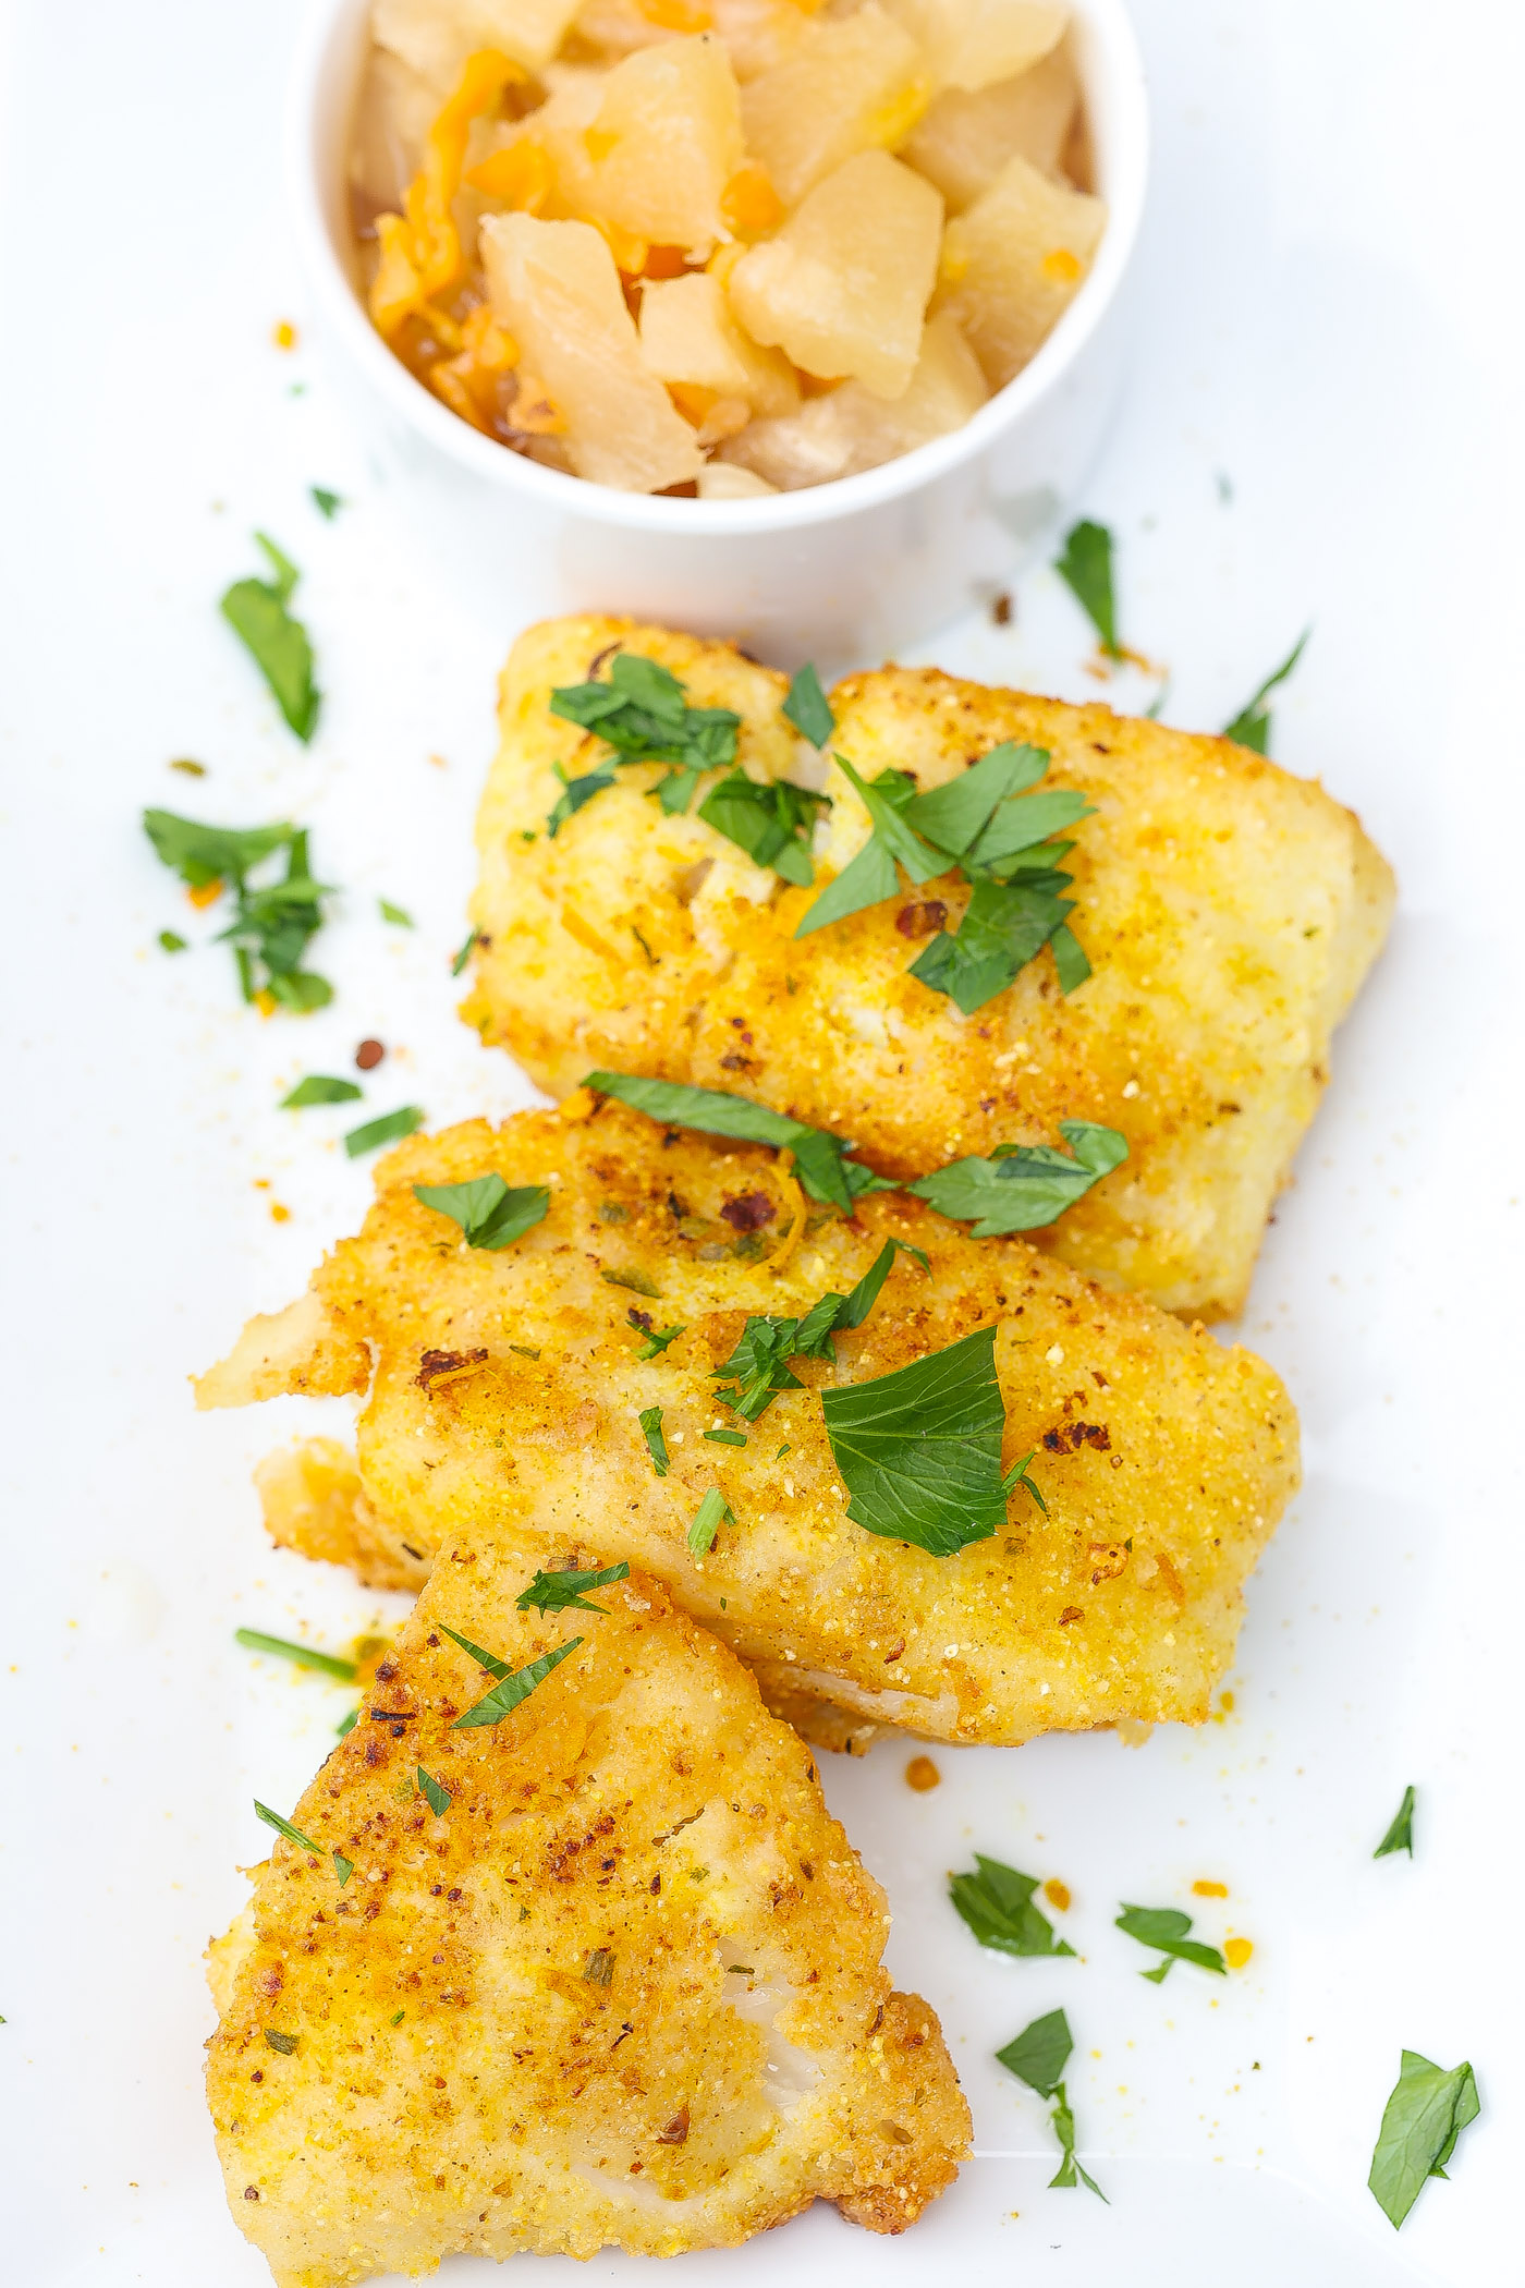
[[[297,826],[201,826],[174,810],[144,810],[144,833],[167,867],[192,890],[231,883],[238,911],[219,936],[231,940],[245,1000],[270,993],[284,1009],[322,1009],[334,1000],[327,977],[302,968],[309,940],[322,927],[327,885],[313,881],[306,831]],[[263,858],[286,851],[286,876],[249,888]]]

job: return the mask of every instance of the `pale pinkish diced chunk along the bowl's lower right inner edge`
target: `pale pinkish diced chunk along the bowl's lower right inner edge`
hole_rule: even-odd
[[[791,492],[798,485],[825,485],[835,476],[878,469],[933,437],[947,437],[988,396],[979,359],[953,320],[928,318],[910,389],[894,405],[871,396],[862,382],[844,382],[823,398],[809,398],[798,414],[748,423],[720,451],[725,462],[766,478],[771,487]],[[709,474],[713,469],[711,462]],[[709,492],[704,496],[713,499]]]

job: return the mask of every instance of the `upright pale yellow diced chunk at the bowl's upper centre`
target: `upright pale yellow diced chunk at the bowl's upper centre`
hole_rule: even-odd
[[[585,130],[585,213],[665,247],[725,236],[720,199],[743,160],[736,76],[711,32],[638,48],[604,80]]]

